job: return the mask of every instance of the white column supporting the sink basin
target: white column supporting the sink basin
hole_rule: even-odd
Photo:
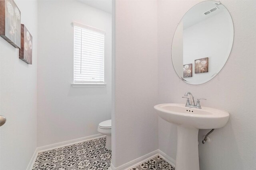
[[[175,170],[199,170],[198,130],[178,125]]]

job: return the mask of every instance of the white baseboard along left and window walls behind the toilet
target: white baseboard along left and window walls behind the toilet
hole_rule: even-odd
[[[64,142],[60,142],[60,143],[54,143],[54,144],[51,144],[51,145],[46,145],[46,146],[43,146],[43,147],[37,147],[29,164],[28,164],[28,167],[27,167],[27,170],[32,170],[33,168],[33,165],[34,165],[34,162],[36,160],[36,157],[38,155],[38,152],[42,152],[42,151],[45,151],[45,150],[52,150],[52,149],[56,149],[56,148],[60,148],[60,147],[64,147],[64,146],[67,146],[67,145],[72,145],[72,144],[75,144],[75,143],[80,143],[82,141],[88,141],[88,140],[92,140],[92,139],[95,139],[95,138],[99,138],[99,137],[104,137],[105,135],[102,135],[102,134],[96,134],[96,135],[91,135],[91,136],[88,136],[88,137],[82,137],[82,138],[78,138],[78,139],[73,139],[73,140],[70,140],[70,141],[64,141]]]

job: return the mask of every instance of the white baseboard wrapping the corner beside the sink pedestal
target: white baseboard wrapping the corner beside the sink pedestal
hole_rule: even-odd
[[[158,149],[158,150],[150,152],[144,156],[141,156],[140,158],[134,159],[126,164],[118,166],[117,168],[115,168],[113,166],[113,164],[111,163],[108,170],[130,170],[130,169],[142,164],[143,162],[146,162],[147,160],[150,160],[151,158],[154,158],[158,155],[161,156],[164,160],[166,160],[166,162],[168,162],[170,165],[175,167],[176,161],[173,158],[171,158],[170,156],[168,156],[167,154],[165,154],[163,151]]]

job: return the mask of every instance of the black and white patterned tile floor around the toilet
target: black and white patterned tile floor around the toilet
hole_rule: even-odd
[[[107,170],[111,150],[106,137],[40,152],[32,170]]]

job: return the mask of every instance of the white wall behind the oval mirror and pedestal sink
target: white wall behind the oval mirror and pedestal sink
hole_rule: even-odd
[[[212,141],[202,145],[198,135],[200,169],[254,170],[256,167],[256,1],[222,0],[234,22],[234,44],[230,57],[212,80],[201,85],[186,84],[178,78],[170,57],[177,23],[199,0],[158,1],[158,103],[186,103],[181,97],[192,92],[195,98],[207,98],[202,106],[230,112],[227,125],[216,129]],[[176,158],[176,126],[158,119],[159,149]]]

